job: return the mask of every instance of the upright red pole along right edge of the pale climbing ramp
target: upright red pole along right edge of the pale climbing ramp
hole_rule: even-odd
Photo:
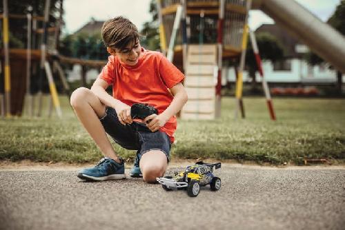
[[[216,85],[215,98],[215,117],[219,118],[221,115],[221,69],[223,67],[223,26],[224,26],[224,0],[219,3],[219,19],[217,28],[217,46],[218,46],[218,76]]]

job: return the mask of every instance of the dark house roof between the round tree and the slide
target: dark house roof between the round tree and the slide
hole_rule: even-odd
[[[288,34],[286,30],[279,27],[277,24],[263,24],[257,30],[255,34],[266,32],[272,34],[283,45],[286,57],[297,57],[299,54],[295,51],[295,46],[298,44],[297,39]]]

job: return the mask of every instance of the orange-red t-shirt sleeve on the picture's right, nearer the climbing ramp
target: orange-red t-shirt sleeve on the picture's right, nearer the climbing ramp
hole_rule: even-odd
[[[163,55],[159,62],[159,75],[169,89],[184,80],[184,74]]]

